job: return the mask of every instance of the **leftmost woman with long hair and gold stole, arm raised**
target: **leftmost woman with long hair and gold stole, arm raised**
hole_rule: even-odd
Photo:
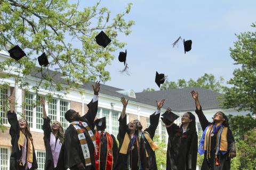
[[[14,113],[14,97],[9,97],[10,111],[7,113],[11,125],[10,135],[12,153],[10,157],[10,170],[37,169],[36,154],[32,134],[25,118],[18,121]]]

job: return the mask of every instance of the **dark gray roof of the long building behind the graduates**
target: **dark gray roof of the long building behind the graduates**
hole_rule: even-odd
[[[66,84],[61,77],[61,74],[55,71],[50,71],[52,77],[55,80],[61,81],[63,84]],[[41,73],[33,73],[31,74],[33,77],[41,78]],[[94,82],[87,82],[82,85],[83,89],[92,90],[91,84]],[[106,94],[114,97],[122,97],[124,95],[120,94],[119,88],[107,86],[105,84],[101,84],[100,93]],[[199,101],[203,107],[203,109],[214,109],[221,108],[220,99],[217,99],[217,96],[222,95],[218,92],[204,89],[201,87],[194,88],[184,88],[184,89],[169,89],[169,90],[161,90],[161,91],[151,91],[151,92],[137,92],[135,93],[136,98],[131,98],[125,96],[125,98],[136,101],[138,103],[156,106],[156,100],[166,99],[164,108],[171,107],[173,111],[193,111],[195,109],[194,99],[191,97],[190,91],[195,90],[199,93]]]

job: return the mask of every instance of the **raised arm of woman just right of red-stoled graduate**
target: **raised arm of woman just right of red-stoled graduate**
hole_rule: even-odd
[[[121,102],[123,104],[123,110],[121,113],[121,116],[119,118],[119,127],[118,127],[118,134],[117,134],[117,140],[121,142],[122,139],[124,139],[124,135],[126,133],[126,128],[127,128],[127,120],[126,120],[126,106],[128,104],[128,101],[124,97],[121,97]]]

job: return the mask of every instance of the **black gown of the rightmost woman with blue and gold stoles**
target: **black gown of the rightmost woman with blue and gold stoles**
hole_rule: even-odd
[[[205,128],[212,124],[209,121],[207,121],[203,111],[202,111],[202,107],[198,110],[196,109],[196,114],[199,118],[199,122],[202,126],[202,130],[204,131]],[[216,145],[216,135],[213,135],[213,137],[211,137],[211,158],[209,163],[207,162],[207,158],[206,158],[206,153],[204,154],[204,160],[203,160],[203,164],[201,169],[202,170],[208,170],[208,169],[214,169],[214,170],[221,170],[221,169],[225,169],[228,170],[230,169],[230,160],[231,158],[228,156],[229,152],[236,152],[236,146],[235,146],[235,140],[233,137],[233,134],[231,132],[231,130],[228,128],[228,132],[227,132],[227,140],[228,140],[228,152],[225,155],[218,155],[218,160],[220,165],[215,165],[215,145]]]

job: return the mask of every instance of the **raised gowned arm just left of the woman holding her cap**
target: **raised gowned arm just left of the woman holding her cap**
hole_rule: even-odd
[[[147,129],[145,129],[145,131],[147,131],[150,134],[152,139],[154,138],[156,128],[158,126],[161,108],[164,105],[164,101],[165,99],[162,99],[161,101],[156,100],[156,112],[150,115],[149,117],[150,125]]]

